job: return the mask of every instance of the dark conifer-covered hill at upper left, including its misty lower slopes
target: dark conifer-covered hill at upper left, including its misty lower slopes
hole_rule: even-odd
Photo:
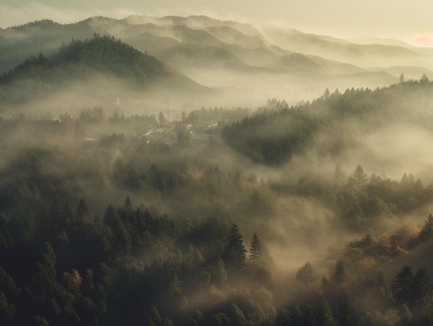
[[[120,39],[95,34],[84,41],[73,39],[53,55],[40,53],[37,57],[28,57],[0,77],[0,92],[11,102],[22,101],[93,81],[100,82],[99,86],[108,83],[115,89],[128,88],[136,92],[151,88],[206,90],[156,57],[142,53]],[[98,85],[92,88],[98,97]],[[23,95],[19,90],[26,92]]]

